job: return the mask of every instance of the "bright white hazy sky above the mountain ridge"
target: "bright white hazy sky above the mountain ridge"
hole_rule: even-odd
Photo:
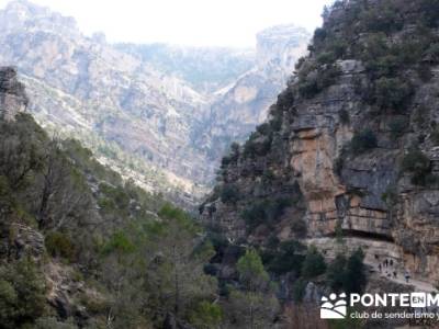
[[[3,8],[9,0],[0,0]],[[313,31],[331,0],[34,0],[74,16],[86,34],[110,42],[165,42],[248,47],[255,34],[275,24]]]

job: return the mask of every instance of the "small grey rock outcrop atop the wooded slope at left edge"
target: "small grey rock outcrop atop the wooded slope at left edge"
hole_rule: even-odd
[[[16,70],[0,67],[0,120],[11,121],[27,106],[24,86],[16,79]]]

